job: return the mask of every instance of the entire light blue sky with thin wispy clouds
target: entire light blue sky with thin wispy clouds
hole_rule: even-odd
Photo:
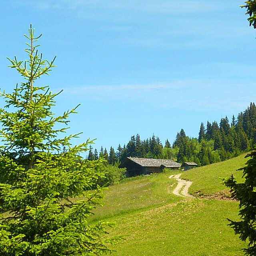
[[[131,135],[173,142],[183,128],[237,116],[255,101],[256,30],[238,0],[2,0],[0,88],[21,77],[6,57],[26,58],[29,24],[43,33],[40,51],[56,68],[38,85],[58,96],[76,144],[97,138],[115,149]],[[1,103],[0,103],[1,104]]]

